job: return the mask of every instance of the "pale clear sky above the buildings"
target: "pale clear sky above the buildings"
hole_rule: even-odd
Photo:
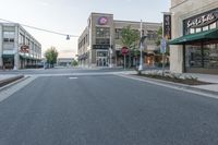
[[[0,0],[0,19],[58,33],[80,36],[92,12],[111,13],[114,20],[162,22],[170,0]],[[66,37],[24,27],[46,49],[53,46],[59,58],[77,53],[77,37]]]

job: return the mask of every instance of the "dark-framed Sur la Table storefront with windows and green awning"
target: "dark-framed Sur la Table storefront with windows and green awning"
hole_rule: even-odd
[[[170,45],[182,46],[184,72],[218,74],[218,9],[183,20],[183,36]]]

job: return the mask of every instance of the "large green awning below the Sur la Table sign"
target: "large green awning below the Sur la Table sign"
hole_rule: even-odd
[[[194,41],[218,39],[218,28],[201,32],[196,34],[185,35],[169,41],[169,45],[185,45]]]

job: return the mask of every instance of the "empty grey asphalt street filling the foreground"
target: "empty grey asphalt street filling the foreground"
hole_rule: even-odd
[[[217,99],[75,72],[37,76],[1,101],[0,145],[218,144]]]

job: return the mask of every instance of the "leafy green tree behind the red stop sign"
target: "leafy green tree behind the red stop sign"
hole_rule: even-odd
[[[140,33],[138,31],[132,29],[129,25],[122,28],[121,36],[122,45],[129,48],[129,67],[131,67],[131,55],[134,55],[134,49],[136,48],[135,46],[138,45]]]

